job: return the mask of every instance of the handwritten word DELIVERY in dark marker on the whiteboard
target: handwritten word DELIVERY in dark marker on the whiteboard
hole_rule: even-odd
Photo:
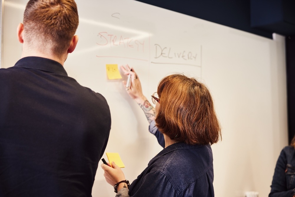
[[[161,47],[158,44],[155,44],[155,59],[163,57],[163,58],[179,58],[183,60],[194,60],[196,61],[197,53],[192,53],[191,51],[177,51],[177,52],[171,52],[171,47]],[[159,50],[158,50],[159,49]]]

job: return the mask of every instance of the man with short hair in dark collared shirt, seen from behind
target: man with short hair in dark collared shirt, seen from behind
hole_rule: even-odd
[[[63,68],[77,27],[74,0],[27,3],[21,59],[0,69],[0,196],[91,196],[111,115]]]

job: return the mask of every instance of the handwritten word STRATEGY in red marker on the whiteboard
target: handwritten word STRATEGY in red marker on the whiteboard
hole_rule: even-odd
[[[97,37],[99,40],[96,44],[98,45],[109,45],[111,48],[121,46],[124,48],[135,49],[142,53],[144,52],[144,40],[140,42],[133,38],[123,37],[122,35],[113,35],[108,32],[99,32]]]

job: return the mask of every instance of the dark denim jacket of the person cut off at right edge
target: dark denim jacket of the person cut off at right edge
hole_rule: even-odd
[[[295,149],[286,146],[276,163],[269,197],[292,197],[295,194]]]

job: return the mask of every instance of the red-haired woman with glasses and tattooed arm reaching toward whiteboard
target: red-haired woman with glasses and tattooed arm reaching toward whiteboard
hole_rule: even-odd
[[[115,163],[114,168],[102,164],[116,196],[214,196],[210,145],[221,138],[221,130],[207,87],[182,74],[166,76],[158,84],[158,96],[152,95],[153,108],[143,96],[134,70],[122,69],[133,79],[127,92],[145,111],[149,122],[155,121],[150,131],[156,128],[154,134],[159,142],[164,139],[164,149],[130,186]]]

